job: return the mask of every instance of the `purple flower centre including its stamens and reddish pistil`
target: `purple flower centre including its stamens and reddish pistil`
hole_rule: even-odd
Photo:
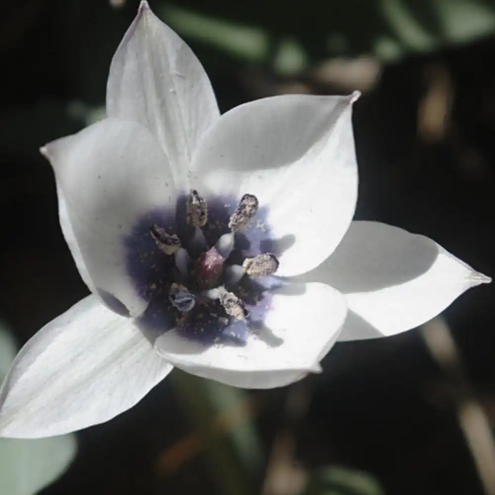
[[[278,268],[274,254],[259,252],[258,239],[268,231],[263,217],[253,195],[207,201],[192,190],[173,216],[158,212],[142,219],[126,242],[131,278],[149,300],[140,323],[158,331],[175,328],[202,342],[243,344],[269,309],[260,282]],[[146,219],[152,221],[144,230]]]

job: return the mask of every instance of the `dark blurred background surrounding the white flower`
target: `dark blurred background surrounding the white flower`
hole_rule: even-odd
[[[494,1],[149,3],[196,52],[222,111],[359,89],[356,218],[425,234],[495,274]],[[18,346],[88,293],[38,148],[104,115],[137,7],[0,5],[0,319]],[[280,390],[176,370],[78,433],[74,461],[41,493],[494,495],[494,295],[484,286],[424,328],[338,344],[322,375]]]

